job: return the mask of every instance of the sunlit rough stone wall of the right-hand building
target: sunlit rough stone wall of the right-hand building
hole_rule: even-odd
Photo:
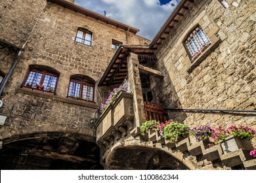
[[[217,0],[195,1],[165,44],[161,44],[157,57],[158,70],[165,73],[166,82],[161,89],[167,101],[165,107],[255,110],[256,4],[253,0],[228,3],[230,7],[224,8]],[[212,42],[202,62],[195,61],[197,67],[182,44],[196,24]],[[179,112],[171,114],[179,119]],[[186,112],[184,117],[184,123],[194,126],[256,127],[253,114]]]

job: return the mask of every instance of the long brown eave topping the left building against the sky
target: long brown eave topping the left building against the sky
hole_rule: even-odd
[[[74,3],[70,3],[68,1],[64,0],[47,0],[48,2],[54,3],[56,5],[60,5],[61,7],[68,8],[74,12],[81,13],[85,16],[88,16],[90,18],[93,18],[95,20],[98,20],[100,22],[104,22],[108,25],[113,25],[119,29],[123,29],[125,31],[129,31],[131,33],[136,34],[139,32],[139,29],[136,29],[135,27],[131,27],[129,25],[123,24],[121,22],[117,22],[116,20],[112,20],[111,18],[107,18],[106,16],[103,16],[101,14],[97,14],[96,12],[93,12],[91,10],[88,10],[86,8],[79,7],[77,5],[74,5]]]

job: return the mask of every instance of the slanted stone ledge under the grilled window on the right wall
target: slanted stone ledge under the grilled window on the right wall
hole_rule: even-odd
[[[217,48],[217,46],[219,46],[219,44],[221,43],[221,39],[217,39],[217,41],[211,43],[211,45],[208,46],[208,48],[206,48],[206,50],[200,54],[200,56],[198,56],[198,58],[196,58],[193,63],[191,64],[191,67],[188,69],[188,73],[192,73],[192,71],[198,67],[198,65],[200,65],[200,63],[202,63],[202,61],[207,58],[207,56],[209,56],[209,54],[211,54],[211,52],[213,52],[213,50],[215,50],[215,48]]]

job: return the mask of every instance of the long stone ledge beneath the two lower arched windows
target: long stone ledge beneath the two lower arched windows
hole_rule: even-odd
[[[87,103],[86,101],[77,101],[77,100],[74,100],[74,99],[58,97],[56,95],[47,95],[45,93],[34,92],[34,91],[26,90],[26,89],[23,89],[23,88],[18,88],[16,92],[24,93],[24,94],[27,94],[27,95],[33,95],[35,97],[43,97],[43,98],[46,98],[46,99],[53,99],[55,101],[61,101],[61,102],[64,102],[64,103],[70,103],[70,104],[73,104],[73,105],[79,105],[79,106],[83,106],[83,107],[90,107],[90,108],[95,108],[95,109],[98,108],[98,105],[96,105],[94,103]]]

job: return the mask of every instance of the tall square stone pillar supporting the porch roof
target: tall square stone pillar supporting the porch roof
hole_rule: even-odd
[[[139,59],[137,54],[129,54],[127,58],[127,67],[130,90],[131,93],[133,93],[133,112],[135,114],[134,127],[140,127],[140,125],[146,121],[138,65]]]

